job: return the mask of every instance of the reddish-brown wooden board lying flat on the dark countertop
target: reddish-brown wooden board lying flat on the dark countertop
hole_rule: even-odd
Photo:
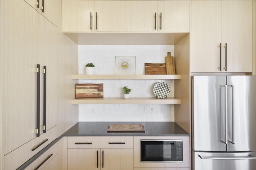
[[[141,131],[145,132],[145,129],[142,124],[138,125],[109,125],[108,131]]]

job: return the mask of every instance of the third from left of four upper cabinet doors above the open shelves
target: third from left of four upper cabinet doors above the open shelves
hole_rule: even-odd
[[[126,31],[157,32],[157,1],[126,1]]]

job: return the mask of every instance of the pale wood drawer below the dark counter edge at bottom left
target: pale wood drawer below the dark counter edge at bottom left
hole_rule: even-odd
[[[57,155],[58,153],[58,144],[56,143],[50,149],[46,150],[41,156],[39,156],[34,162],[32,162],[25,170],[42,170],[42,169],[47,169],[47,170],[56,170],[56,166],[58,165],[57,163]],[[56,161],[56,162],[54,162]],[[46,165],[51,162],[51,164],[54,164],[54,166],[47,166],[51,168],[46,168]]]

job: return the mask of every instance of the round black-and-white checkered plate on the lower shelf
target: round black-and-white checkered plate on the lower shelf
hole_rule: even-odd
[[[167,96],[170,94],[170,87],[165,82],[158,82],[154,85],[153,92],[156,98],[167,98]]]

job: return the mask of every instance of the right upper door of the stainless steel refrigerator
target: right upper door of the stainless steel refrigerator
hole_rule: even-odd
[[[227,150],[256,150],[256,76],[227,76]]]

